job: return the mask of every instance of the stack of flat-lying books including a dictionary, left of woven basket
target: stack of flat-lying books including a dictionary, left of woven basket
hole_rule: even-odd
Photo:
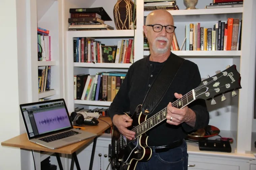
[[[112,19],[103,7],[70,8],[69,13],[69,31],[114,30],[114,27],[104,23],[104,21],[111,21]]]

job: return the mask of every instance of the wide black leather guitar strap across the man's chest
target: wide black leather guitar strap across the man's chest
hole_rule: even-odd
[[[184,60],[173,53],[170,54],[144,98],[141,107],[143,114],[149,115],[155,110]]]

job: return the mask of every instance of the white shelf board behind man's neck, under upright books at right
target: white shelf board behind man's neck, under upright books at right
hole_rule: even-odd
[[[178,56],[221,56],[224,58],[230,57],[240,57],[241,51],[172,51],[174,54]],[[144,51],[144,55],[149,55],[149,51]]]

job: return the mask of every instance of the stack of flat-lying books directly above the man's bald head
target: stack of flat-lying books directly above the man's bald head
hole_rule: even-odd
[[[144,0],[144,11],[157,9],[179,10],[176,0]]]

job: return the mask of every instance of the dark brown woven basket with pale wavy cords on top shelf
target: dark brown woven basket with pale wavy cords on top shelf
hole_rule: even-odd
[[[114,6],[114,20],[118,30],[129,30],[133,22],[134,2],[118,0]],[[136,8],[134,10],[134,25],[136,25]]]

